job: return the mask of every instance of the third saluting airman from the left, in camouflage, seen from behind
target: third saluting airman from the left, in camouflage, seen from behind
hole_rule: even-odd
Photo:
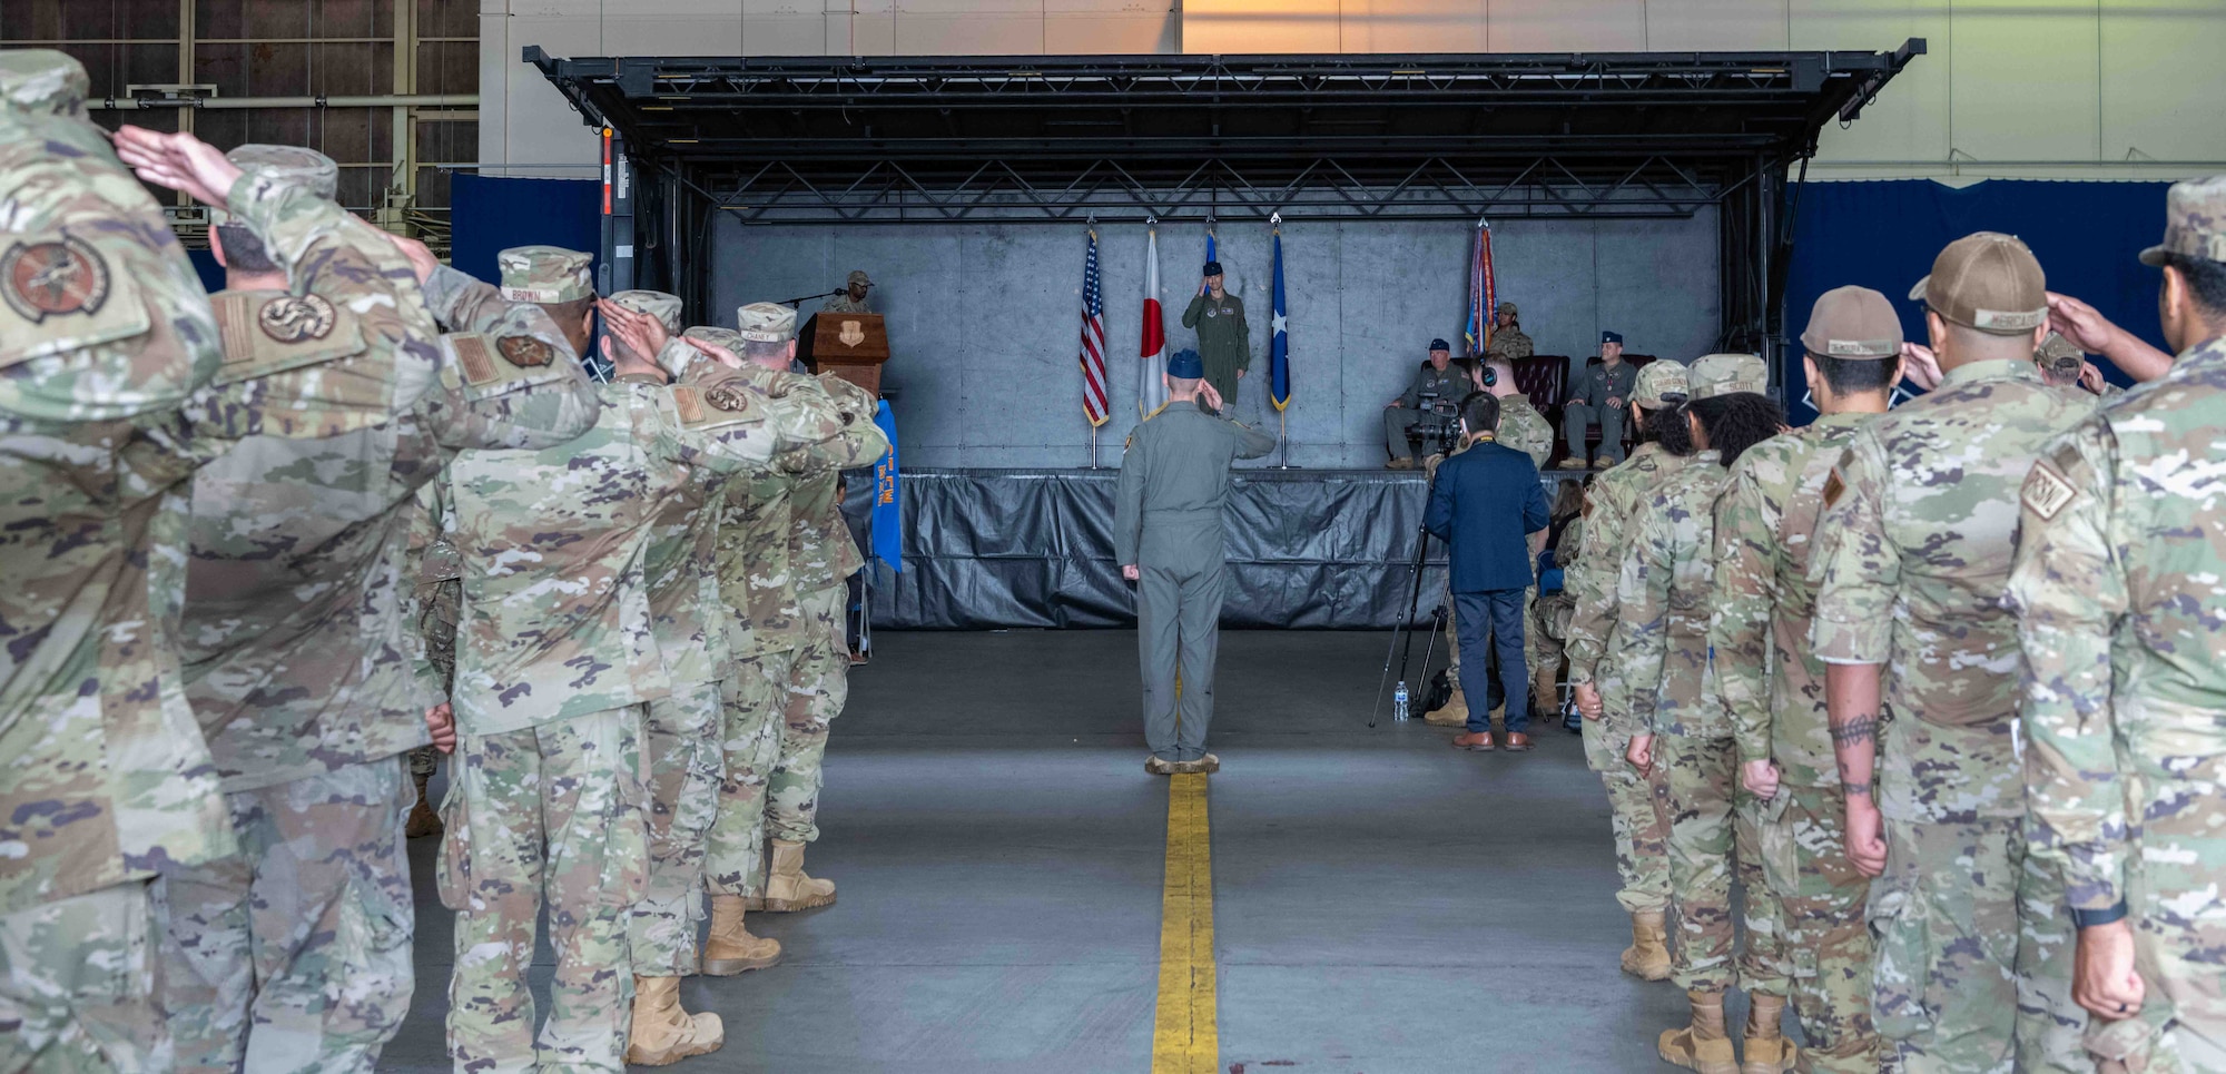
[[[590,323],[588,254],[514,247],[496,263],[510,301]],[[626,330],[639,332],[632,343]],[[641,720],[672,691],[643,575],[652,521],[688,472],[757,470],[841,430],[824,397],[766,397],[748,368],[668,383],[686,357],[659,336],[654,319],[612,323],[603,357],[617,379],[590,432],[539,452],[470,450],[441,475],[441,528],[465,550],[452,709],[430,713],[443,729],[452,713],[461,760],[439,862],[441,900],[456,909],[447,1043],[459,1067],[623,1067],[626,920],[648,853]],[[563,361],[550,348],[496,350],[514,365]],[[525,967],[543,905],[556,980],[536,1041]],[[717,1047],[715,1018],[686,1016],[677,998],[661,1014],[681,1054]]]

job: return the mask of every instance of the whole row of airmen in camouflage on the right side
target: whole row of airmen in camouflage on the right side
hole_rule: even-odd
[[[1638,370],[1567,655],[1623,967],[1687,992],[1665,1061],[2226,1070],[2226,176],[2141,261],[2177,359],[1979,232],[1910,292],[1930,348],[1816,301],[1805,428],[1759,359]],[[2081,345],[2146,383],[2081,388]]]

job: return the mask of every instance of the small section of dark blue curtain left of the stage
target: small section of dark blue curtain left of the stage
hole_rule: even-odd
[[[592,178],[496,178],[456,172],[450,263],[501,283],[494,254],[514,245],[603,247],[603,185]]]

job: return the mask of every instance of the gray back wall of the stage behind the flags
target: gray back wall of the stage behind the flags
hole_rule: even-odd
[[[1431,336],[1460,339],[1467,307],[1465,223],[1284,225],[1291,383],[1289,461],[1376,468],[1382,406],[1405,390]],[[1144,227],[1100,227],[1109,394],[1100,463],[1115,466],[1135,423]],[[1275,423],[1267,406],[1269,230],[1218,230],[1229,285],[1253,330],[1253,374],[1238,417]],[[1198,290],[1202,225],[1160,227],[1160,303],[1171,348]],[[1089,466],[1080,350],[1082,225],[741,225],[719,221],[715,319],[748,301],[824,292],[853,267],[873,274],[895,359],[908,466]],[[1500,296],[1545,354],[1596,354],[1612,328],[1627,348],[1692,361],[1718,330],[1716,221],[1494,223]],[[806,303],[806,314],[817,303]],[[1267,459],[1269,463],[1278,459]]]

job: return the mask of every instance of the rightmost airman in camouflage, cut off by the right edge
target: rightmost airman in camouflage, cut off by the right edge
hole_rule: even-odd
[[[2175,183],[2173,368],[2041,448],[2010,575],[2032,858],[2066,878],[2104,1072],[2226,1070],[2226,176]]]

